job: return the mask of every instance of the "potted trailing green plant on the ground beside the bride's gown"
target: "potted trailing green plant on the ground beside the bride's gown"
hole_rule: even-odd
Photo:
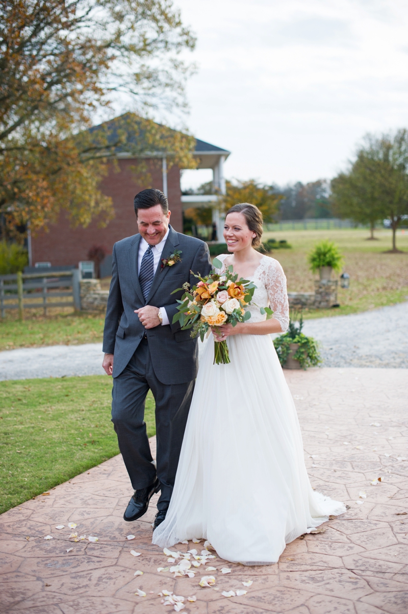
[[[293,316],[293,319],[290,319],[287,332],[274,340],[279,362],[285,369],[306,370],[307,367],[317,367],[321,362],[317,342],[313,337],[307,337],[302,333],[302,314],[299,317],[298,325],[296,325],[298,312],[293,312]]]

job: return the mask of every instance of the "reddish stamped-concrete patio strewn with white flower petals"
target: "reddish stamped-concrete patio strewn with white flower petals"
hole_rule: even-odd
[[[175,563],[151,543],[154,500],[140,521],[123,521],[131,486],[117,456],[1,516],[1,612],[164,614],[174,611],[161,604],[158,593],[166,590],[185,597],[182,612],[189,614],[406,614],[408,371],[316,368],[285,376],[312,486],[344,500],[344,515],[294,540],[277,564],[215,558],[191,567],[192,578],[174,578],[158,572]],[[86,538],[75,542],[72,533]],[[171,550],[193,548],[201,554],[203,540]],[[217,570],[206,572],[208,565]],[[143,575],[134,575],[138,570]],[[211,588],[199,586],[206,575],[215,578]],[[222,594],[237,590],[247,593]]]

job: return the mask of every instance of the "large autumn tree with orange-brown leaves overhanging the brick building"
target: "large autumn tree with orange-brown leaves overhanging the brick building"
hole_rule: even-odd
[[[171,0],[6,0],[0,4],[0,219],[9,233],[66,209],[87,225],[112,203],[98,190],[117,148],[193,164],[193,139],[148,118],[182,108],[193,49]],[[134,113],[89,131],[121,96]],[[126,127],[126,130],[125,130]],[[129,138],[130,135],[130,138]]]

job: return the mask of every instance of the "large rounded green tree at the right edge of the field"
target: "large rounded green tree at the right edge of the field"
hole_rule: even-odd
[[[375,222],[388,219],[393,231],[391,252],[398,252],[396,230],[408,214],[408,130],[366,136],[355,162],[333,179],[331,189],[334,211],[369,223],[371,238]]]

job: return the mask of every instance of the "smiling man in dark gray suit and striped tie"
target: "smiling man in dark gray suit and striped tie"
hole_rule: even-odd
[[[185,282],[193,286],[193,273],[207,275],[211,261],[206,243],[169,225],[160,190],[139,192],[134,210],[139,233],[115,243],[112,254],[103,367],[114,378],[112,422],[134,489],[123,518],[143,516],[161,490],[156,528],[169,507],[198,370],[197,338],[172,323],[183,290],[171,292]],[[157,470],[144,422],[149,389],[156,402]]]

